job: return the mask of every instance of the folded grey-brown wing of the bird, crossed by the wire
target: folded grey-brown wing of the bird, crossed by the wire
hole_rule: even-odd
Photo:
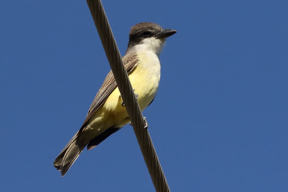
[[[138,57],[136,54],[134,54],[132,56],[126,56],[125,55],[122,58],[122,60],[123,60],[125,69],[126,69],[127,73],[129,74],[134,69],[134,67],[137,65]],[[115,81],[115,78],[114,78],[112,71],[110,71],[108,73],[108,75],[106,76],[100,90],[96,94],[94,101],[91,104],[91,107],[88,111],[87,117],[86,117],[81,129],[85,126],[85,123],[94,114],[94,112],[107,100],[108,96],[111,94],[111,92],[116,87],[117,87],[117,83]]]

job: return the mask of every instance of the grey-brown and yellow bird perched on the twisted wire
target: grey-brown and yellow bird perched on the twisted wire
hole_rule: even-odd
[[[163,29],[151,22],[131,27],[126,54],[122,57],[141,111],[152,103],[160,81],[159,55],[173,29]],[[80,153],[96,147],[130,122],[112,71],[96,94],[79,131],[56,157],[54,167],[64,176]]]

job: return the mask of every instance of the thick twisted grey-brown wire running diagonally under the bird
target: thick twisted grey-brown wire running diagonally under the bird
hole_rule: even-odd
[[[149,132],[148,130],[144,129],[145,123],[143,121],[143,115],[139,104],[136,101],[132,85],[124,68],[119,49],[114,39],[101,0],[87,0],[87,4],[96,25],[120,94],[126,105],[126,111],[130,117],[131,124],[133,125],[134,133],[156,192],[170,192]]]

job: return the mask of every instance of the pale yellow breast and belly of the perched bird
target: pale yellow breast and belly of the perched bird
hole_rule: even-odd
[[[139,54],[139,62],[129,74],[129,79],[138,103],[143,111],[154,99],[160,81],[160,62],[158,57],[151,57],[149,52]],[[110,127],[123,127],[129,123],[129,117],[125,107],[121,106],[122,97],[118,87],[113,90],[105,103],[94,113],[86,130],[100,134]],[[96,134],[96,133],[95,133]]]

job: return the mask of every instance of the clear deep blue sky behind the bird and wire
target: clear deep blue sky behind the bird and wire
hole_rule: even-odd
[[[64,177],[53,161],[109,64],[86,1],[0,6],[0,191],[154,191],[131,126]],[[103,1],[120,52],[130,27],[178,31],[145,111],[171,191],[287,191],[287,1]]]

